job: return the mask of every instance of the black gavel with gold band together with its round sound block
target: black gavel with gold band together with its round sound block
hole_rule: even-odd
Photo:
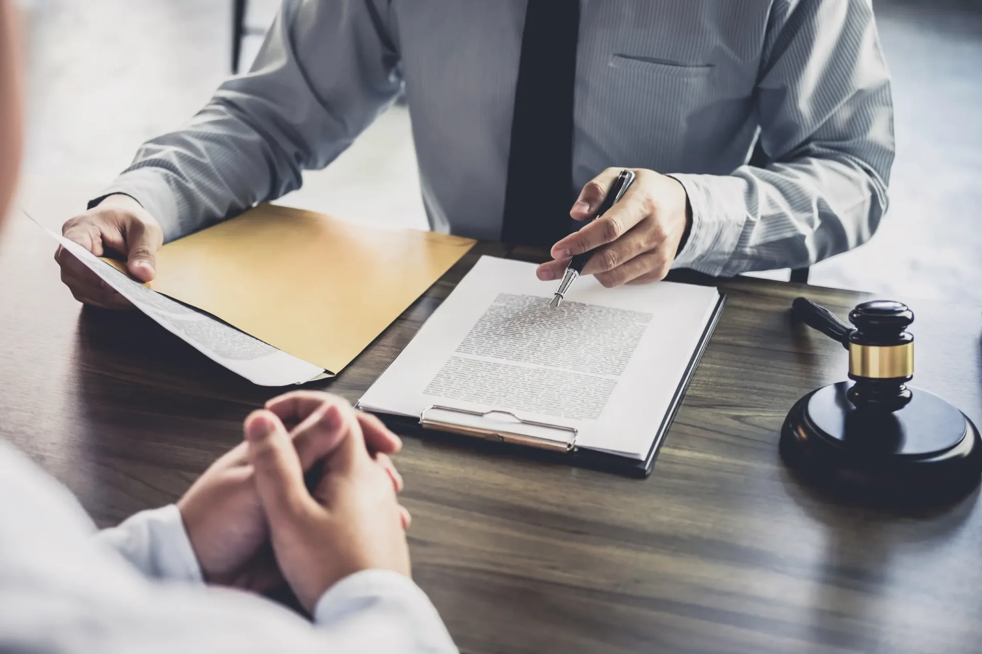
[[[849,313],[847,327],[799,297],[791,315],[846,347],[852,381],[814,390],[791,407],[781,432],[789,465],[858,492],[927,501],[978,484],[978,429],[946,400],[907,385],[914,372],[910,309],[866,302]]]

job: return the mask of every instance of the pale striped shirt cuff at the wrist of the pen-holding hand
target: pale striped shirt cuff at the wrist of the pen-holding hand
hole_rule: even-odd
[[[669,175],[685,188],[692,228],[673,268],[690,268],[719,277],[736,250],[746,222],[746,182],[733,176]]]

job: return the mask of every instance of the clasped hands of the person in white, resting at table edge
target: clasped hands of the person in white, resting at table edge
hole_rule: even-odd
[[[245,432],[178,502],[206,581],[266,592],[285,579],[312,611],[358,571],[409,575],[409,512],[388,456],[398,436],[315,391],[270,400]]]

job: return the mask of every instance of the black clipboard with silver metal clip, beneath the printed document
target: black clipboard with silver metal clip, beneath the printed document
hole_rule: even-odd
[[[669,409],[665,412],[665,417],[655,433],[651,448],[643,460],[579,448],[575,442],[575,428],[525,420],[510,411],[489,410],[476,412],[444,404],[430,405],[415,419],[383,412],[371,411],[369,413],[379,418],[386,427],[401,434],[458,443],[489,454],[508,454],[522,458],[564,463],[578,468],[616,473],[632,478],[647,478],[654,469],[658,452],[665,442],[665,436],[672,425],[672,421],[675,419],[676,413],[679,411],[679,407],[682,405],[682,399],[685,396],[685,391],[688,389],[692,374],[702,360],[706,346],[709,344],[713,331],[719,323],[723,308],[726,305],[726,299],[726,294],[720,293],[713,313],[706,323],[706,327],[703,329],[698,344],[693,350],[688,365],[685,367],[685,372],[673,394]],[[440,414],[444,416],[442,420],[440,419]],[[553,430],[557,435],[565,434],[565,437],[536,438],[524,433],[509,431],[505,428],[496,428],[491,425],[475,426],[475,421],[473,420],[469,420],[471,424],[464,425],[462,424],[464,422],[463,420],[454,421],[451,419],[451,416],[455,414],[461,418],[465,417],[468,420],[480,419],[490,414],[509,415],[520,424]]]

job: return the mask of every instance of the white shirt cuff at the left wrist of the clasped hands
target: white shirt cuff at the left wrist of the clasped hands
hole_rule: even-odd
[[[176,504],[140,511],[96,536],[150,579],[203,583],[191,538]]]

